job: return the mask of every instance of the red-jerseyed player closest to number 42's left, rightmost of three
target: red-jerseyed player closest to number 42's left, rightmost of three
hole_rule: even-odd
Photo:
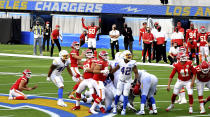
[[[98,112],[95,111],[95,108],[97,105],[101,104],[101,102],[105,98],[105,87],[103,82],[106,80],[106,77],[109,74],[109,63],[108,63],[108,53],[106,51],[100,51],[99,52],[99,60],[96,62],[96,65],[93,69],[93,81],[92,85],[93,88],[96,90],[97,95],[92,95],[94,98],[94,103],[91,106],[89,112],[92,114],[98,114]],[[103,107],[100,108],[100,110],[104,113],[105,109]]]

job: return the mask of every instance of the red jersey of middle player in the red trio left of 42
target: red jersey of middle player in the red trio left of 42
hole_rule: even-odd
[[[92,59],[88,59],[83,63],[83,68],[91,68],[92,63],[95,63],[96,59],[92,58]],[[84,72],[83,77],[84,79],[89,79],[89,78],[93,78],[93,73],[91,72]]]

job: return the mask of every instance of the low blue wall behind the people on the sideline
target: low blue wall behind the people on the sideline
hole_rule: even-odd
[[[32,32],[22,32],[21,33],[21,43],[22,44],[29,44],[33,45],[34,40],[33,40],[33,33]],[[80,34],[63,34],[63,42],[60,43],[61,46],[65,47],[70,47],[71,43],[73,41],[78,41],[79,42]],[[110,49],[110,38],[108,35],[100,35],[99,40],[96,42],[97,48],[105,48],[105,49]],[[166,51],[168,52],[170,49],[171,43],[170,39],[168,39],[167,44],[166,44]],[[87,44],[84,44],[82,47],[87,48]],[[123,36],[119,37],[119,48],[120,49],[125,49],[124,48],[124,39]],[[139,37],[134,36],[134,42],[133,42],[133,50],[142,50],[142,46],[139,46]]]

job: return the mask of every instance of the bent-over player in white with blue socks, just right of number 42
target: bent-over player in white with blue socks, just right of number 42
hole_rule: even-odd
[[[152,104],[153,114],[157,114],[157,107],[155,103],[154,94],[156,92],[158,79],[156,76],[149,74],[143,70],[138,70],[138,73],[139,73],[138,80],[140,81],[140,84],[141,84],[140,86],[141,87],[141,105],[140,105],[140,111],[136,114],[137,115],[145,114],[144,107],[145,107],[147,98]]]

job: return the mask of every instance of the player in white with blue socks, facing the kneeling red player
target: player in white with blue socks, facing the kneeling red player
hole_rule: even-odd
[[[71,63],[69,59],[69,53],[66,50],[61,50],[59,52],[59,57],[53,60],[50,70],[48,72],[48,81],[52,81],[58,87],[58,101],[57,104],[62,107],[67,107],[67,104],[63,101],[63,77],[61,76],[63,70],[67,68],[68,73],[72,76],[69,64]]]

